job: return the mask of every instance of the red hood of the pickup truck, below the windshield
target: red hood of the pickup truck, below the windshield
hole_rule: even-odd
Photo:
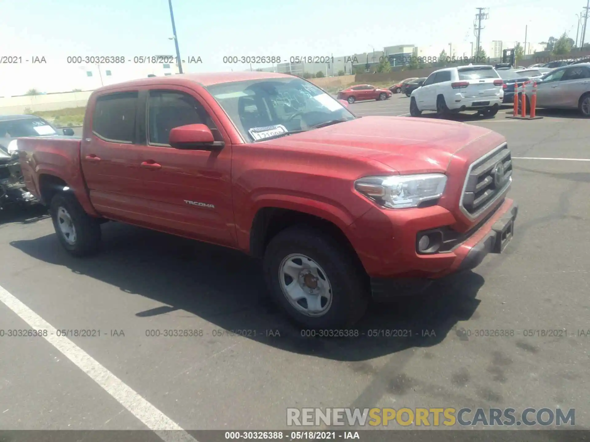
[[[444,172],[455,152],[491,133],[455,121],[371,116],[262,143],[366,157],[408,174]]]

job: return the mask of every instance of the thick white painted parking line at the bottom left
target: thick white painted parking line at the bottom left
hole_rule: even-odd
[[[162,440],[166,442],[197,442],[180,425],[176,424],[171,418],[163,414],[162,411],[158,410],[158,408],[154,407],[139,393],[129,387],[129,385],[125,384],[112,372],[100,365],[96,359],[92,358],[87,352],[74,344],[74,342],[66,337],[58,336],[54,326],[37,315],[2,286],[0,286],[0,301],[15,312],[19,318],[27,322],[32,329],[47,330],[47,336],[44,337],[47,342],[62,352],[70,361],[74,362],[80,370],[89,375],[94,382],[99,384],[119,404],[123,405],[136,418],[142,421],[146,427],[158,434]]]

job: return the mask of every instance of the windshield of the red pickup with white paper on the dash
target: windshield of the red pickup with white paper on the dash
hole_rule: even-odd
[[[301,78],[236,81],[207,90],[248,141],[356,118],[335,98]]]

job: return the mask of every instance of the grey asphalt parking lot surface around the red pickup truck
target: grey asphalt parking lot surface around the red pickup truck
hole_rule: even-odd
[[[350,109],[404,116],[409,98]],[[44,213],[0,213],[0,329],[28,329],[28,318],[100,331],[69,338],[76,363],[42,337],[0,337],[0,429],[281,429],[287,407],[562,407],[589,428],[590,161],[579,159],[590,159],[590,123],[575,112],[510,120],[509,110],[453,117],[498,131],[512,150],[520,210],[505,253],[373,305],[356,326],[430,337],[304,338],[238,253],[107,223],[103,252],[74,259]],[[149,336],[166,329],[202,336]]]

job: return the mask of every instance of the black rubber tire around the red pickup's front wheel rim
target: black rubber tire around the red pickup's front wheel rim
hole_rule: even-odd
[[[284,276],[279,275],[280,266],[292,254],[311,258],[323,269],[324,279],[329,281],[332,301],[321,316],[309,316],[299,311],[283,292],[281,278]],[[264,253],[268,291],[273,301],[305,328],[346,328],[365,314],[369,302],[366,275],[359,265],[353,264],[355,260],[352,258],[348,250],[320,230],[306,226],[289,227],[270,241]]]

